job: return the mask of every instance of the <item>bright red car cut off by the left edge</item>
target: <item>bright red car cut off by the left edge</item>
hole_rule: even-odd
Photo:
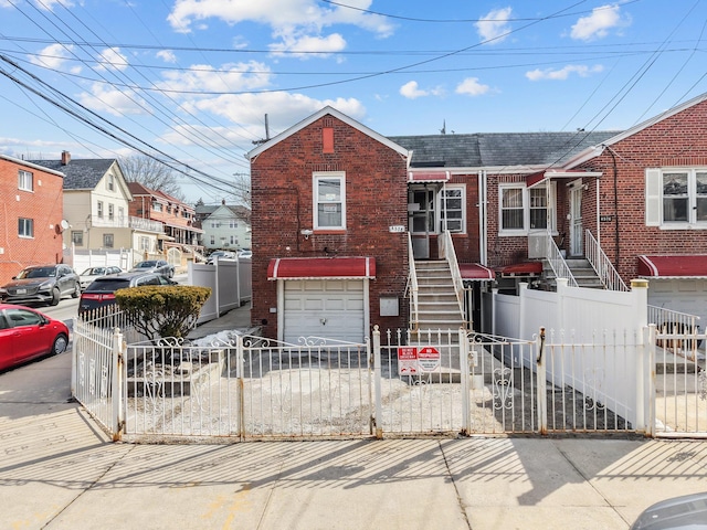
[[[0,304],[0,370],[63,353],[67,346],[68,328],[61,320],[29,307]]]

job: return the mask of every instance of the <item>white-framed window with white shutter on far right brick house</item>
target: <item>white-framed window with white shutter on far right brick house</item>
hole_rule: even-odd
[[[645,223],[707,227],[707,168],[646,169]]]

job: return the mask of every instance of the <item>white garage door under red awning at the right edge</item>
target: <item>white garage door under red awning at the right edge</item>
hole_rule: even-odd
[[[707,329],[707,279],[658,279],[648,282],[648,304],[699,317],[699,329]]]

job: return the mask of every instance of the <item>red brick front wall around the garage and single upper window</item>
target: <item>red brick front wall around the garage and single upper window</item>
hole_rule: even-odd
[[[334,130],[334,150],[324,152],[323,129]],[[313,172],[346,172],[346,225],[342,233],[300,234],[313,227]],[[405,159],[360,130],[325,116],[263,151],[251,163],[253,236],[252,320],[277,336],[276,282],[267,279],[275,257],[372,256],[370,322],[382,329],[407,326],[403,299],[408,279],[408,239],[390,233],[408,225]],[[380,317],[380,296],[400,299],[400,317]]]

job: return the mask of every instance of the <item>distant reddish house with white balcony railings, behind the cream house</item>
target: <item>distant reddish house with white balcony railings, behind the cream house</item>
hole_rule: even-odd
[[[169,246],[199,246],[199,236],[203,231],[196,226],[193,206],[139,182],[128,182],[128,188],[133,194],[130,215],[163,226],[161,239],[165,243],[160,245],[160,251]]]

